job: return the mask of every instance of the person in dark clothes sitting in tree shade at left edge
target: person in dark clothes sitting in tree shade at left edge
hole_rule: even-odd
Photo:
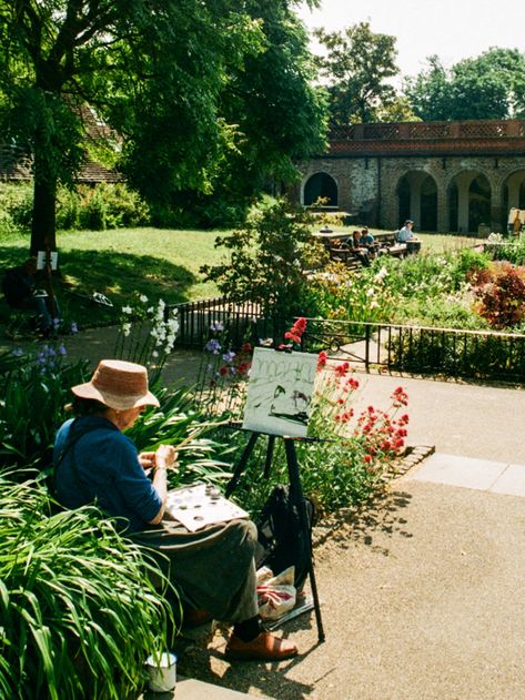
[[[3,274],[2,292],[6,301],[18,311],[33,311],[38,329],[49,333],[53,328],[53,319],[48,308],[46,293],[37,291],[37,258],[29,257],[21,265],[10,267]]]

